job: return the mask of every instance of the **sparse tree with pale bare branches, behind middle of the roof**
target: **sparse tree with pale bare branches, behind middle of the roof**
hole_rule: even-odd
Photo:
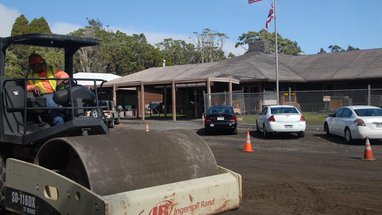
[[[229,37],[227,34],[203,29],[202,33],[194,32],[194,36],[188,37],[196,45],[197,51],[201,54],[202,63],[225,60],[223,45]],[[222,55],[223,52],[223,55]]]

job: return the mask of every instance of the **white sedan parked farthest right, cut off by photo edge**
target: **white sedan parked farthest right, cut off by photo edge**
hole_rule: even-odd
[[[324,121],[326,136],[337,134],[346,143],[353,139],[382,139],[382,109],[374,106],[346,106],[329,114]]]

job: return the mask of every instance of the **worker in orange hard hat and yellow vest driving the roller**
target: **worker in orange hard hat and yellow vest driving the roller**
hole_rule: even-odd
[[[69,78],[69,75],[55,66],[49,66],[45,59],[39,54],[31,54],[28,58],[29,66],[32,69],[32,73],[28,75],[28,78]],[[42,94],[46,98],[46,106],[59,107],[53,101],[53,93],[56,91],[57,86],[60,86],[64,80],[29,80],[27,82],[27,91],[34,92],[36,94]],[[61,116],[60,109],[49,109],[49,116],[52,118],[55,125],[64,123]]]

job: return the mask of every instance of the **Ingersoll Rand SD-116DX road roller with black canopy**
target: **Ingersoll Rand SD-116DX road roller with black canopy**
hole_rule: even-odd
[[[14,45],[65,50],[69,78],[54,93],[65,123],[54,125],[45,98],[27,92],[32,78],[4,78]],[[102,116],[85,117],[97,92],[73,78],[73,54],[98,39],[30,33],[0,37],[0,213],[209,215],[241,203],[241,176],[217,166],[189,130],[109,132]],[[105,108],[97,106],[97,109]],[[49,108],[52,109],[52,108]]]

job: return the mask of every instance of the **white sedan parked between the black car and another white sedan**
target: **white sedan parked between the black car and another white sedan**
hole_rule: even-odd
[[[305,117],[295,106],[270,105],[265,106],[256,119],[257,133],[263,133],[268,138],[271,133],[295,133],[298,137],[305,135]]]

